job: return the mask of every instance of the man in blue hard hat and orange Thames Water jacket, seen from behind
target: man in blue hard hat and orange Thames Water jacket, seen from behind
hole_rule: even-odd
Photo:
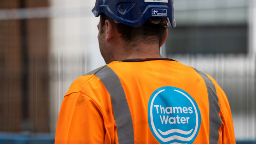
[[[209,75],[159,49],[173,0],[96,0],[107,65],[64,96],[55,144],[234,144],[228,99]]]

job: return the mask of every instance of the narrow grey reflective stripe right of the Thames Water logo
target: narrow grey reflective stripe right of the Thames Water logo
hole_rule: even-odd
[[[222,124],[222,121],[219,116],[220,106],[219,106],[219,98],[216,93],[215,85],[212,83],[212,80],[206,76],[201,71],[194,68],[198,74],[202,76],[208,91],[209,98],[209,122],[210,122],[210,136],[209,142],[210,144],[217,144],[219,140],[219,129]]]

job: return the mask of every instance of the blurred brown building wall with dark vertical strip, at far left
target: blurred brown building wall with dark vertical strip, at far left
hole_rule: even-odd
[[[49,132],[49,20],[15,19],[13,11],[47,6],[47,1],[0,1],[2,132]]]

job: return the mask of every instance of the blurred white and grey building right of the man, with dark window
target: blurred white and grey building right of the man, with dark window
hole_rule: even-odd
[[[169,29],[167,57],[212,76],[228,97],[236,139],[256,139],[255,1],[174,3],[177,27]]]

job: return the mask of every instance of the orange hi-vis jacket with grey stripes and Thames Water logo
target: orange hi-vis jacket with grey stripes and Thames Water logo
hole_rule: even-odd
[[[216,81],[171,59],[113,61],[64,96],[55,144],[233,144]]]

